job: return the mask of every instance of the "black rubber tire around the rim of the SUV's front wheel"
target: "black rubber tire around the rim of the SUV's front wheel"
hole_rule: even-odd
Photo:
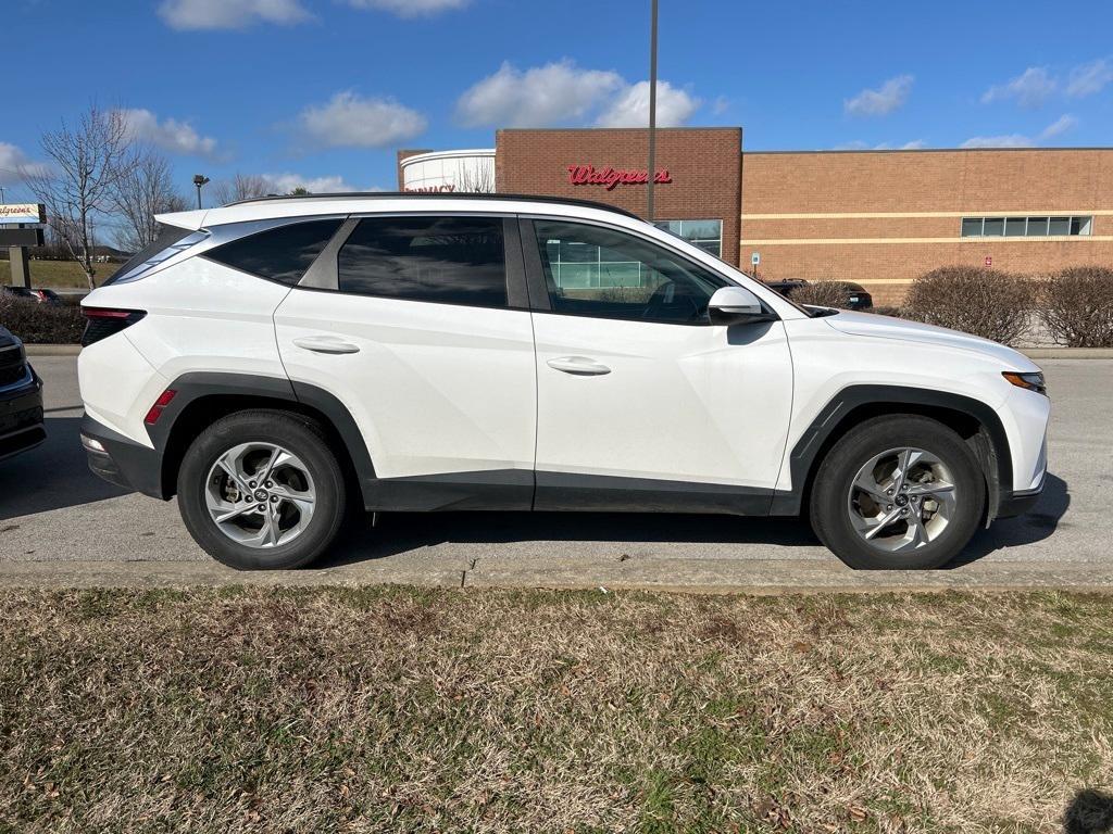
[[[949,471],[955,487],[954,517],[937,538],[915,549],[890,553],[858,534],[848,500],[855,477],[874,456],[903,447],[930,453]],[[947,564],[966,547],[984,518],[985,502],[985,476],[962,437],[926,417],[894,415],[855,426],[831,447],[816,474],[809,510],[819,540],[853,568],[929,569]]]

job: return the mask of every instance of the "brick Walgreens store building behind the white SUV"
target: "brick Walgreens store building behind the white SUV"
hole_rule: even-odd
[[[644,216],[647,140],[641,129],[500,130],[495,188]],[[414,153],[398,153],[402,189],[410,158],[427,187],[436,155]],[[656,222],[747,271],[758,252],[764,279],[854,280],[877,304],[951,264],[1113,265],[1113,149],[750,152],[739,128],[672,128],[658,131],[654,167]]]

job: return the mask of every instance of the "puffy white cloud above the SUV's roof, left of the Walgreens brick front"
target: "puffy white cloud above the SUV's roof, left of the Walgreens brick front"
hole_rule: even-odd
[[[382,148],[413,139],[429,125],[416,110],[388,98],[364,98],[351,90],[298,116],[307,143],[318,148]]]

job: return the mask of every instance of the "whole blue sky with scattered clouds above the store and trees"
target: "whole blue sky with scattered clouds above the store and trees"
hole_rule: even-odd
[[[1106,146],[1113,3],[661,0],[662,120],[749,150]],[[189,188],[386,188],[400,147],[637,123],[649,0],[6,0],[0,185],[91,101]],[[23,193],[26,196],[26,192]]]

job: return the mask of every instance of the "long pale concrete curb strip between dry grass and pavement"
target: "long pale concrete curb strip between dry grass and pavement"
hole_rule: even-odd
[[[215,562],[6,562],[0,589],[358,587],[652,590],[683,594],[880,594],[1070,590],[1113,594],[1113,565],[975,563],[953,570],[850,570],[830,560],[485,558],[464,570],[427,558],[321,570],[238,573]]]

